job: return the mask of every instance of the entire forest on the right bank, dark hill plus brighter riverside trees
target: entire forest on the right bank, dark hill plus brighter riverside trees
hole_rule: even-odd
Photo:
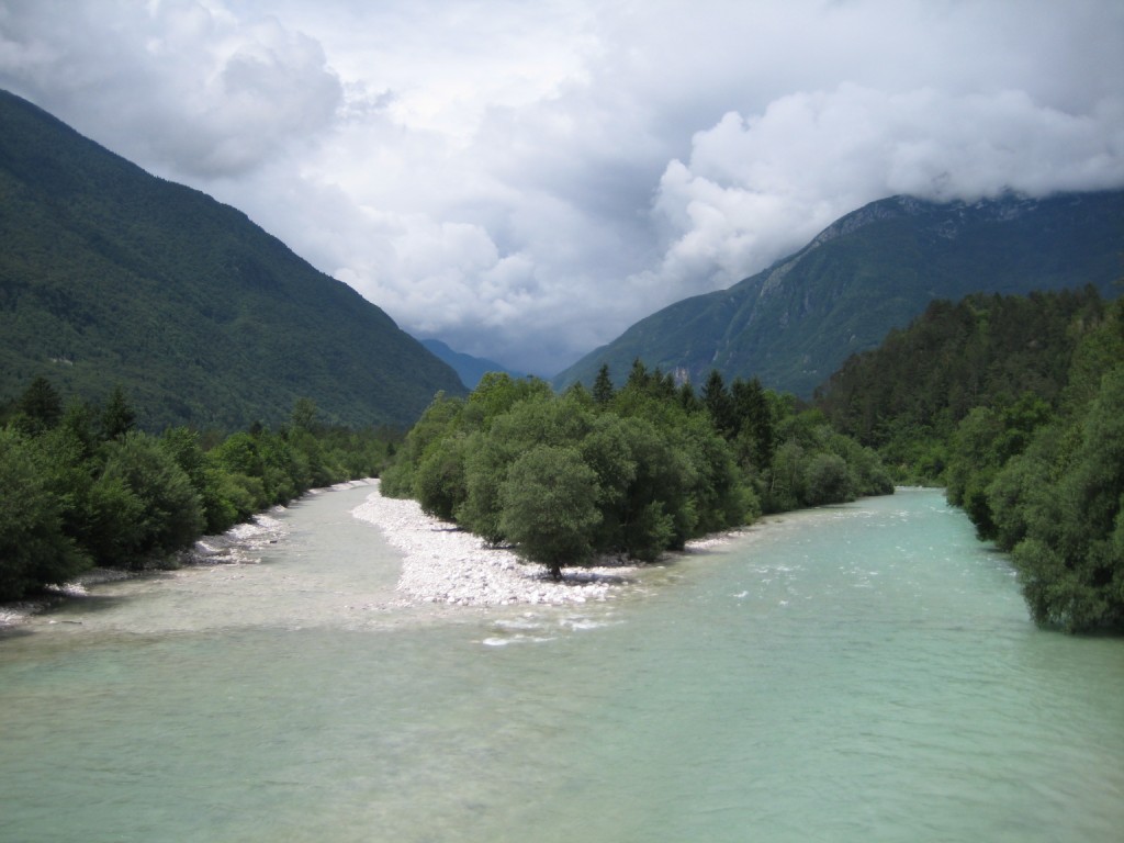
[[[934,302],[818,398],[1010,552],[1036,623],[1124,632],[1124,301]]]

